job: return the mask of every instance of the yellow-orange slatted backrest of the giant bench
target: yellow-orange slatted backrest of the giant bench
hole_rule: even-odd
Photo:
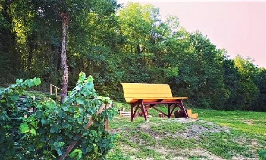
[[[126,102],[134,98],[172,98],[170,86],[167,84],[146,84],[146,83],[121,83]]]

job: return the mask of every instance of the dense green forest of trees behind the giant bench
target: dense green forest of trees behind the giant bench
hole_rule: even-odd
[[[96,90],[123,101],[120,82],[167,83],[187,106],[266,111],[266,70],[241,55],[230,59],[176,16],[116,0],[0,0],[0,86],[40,77],[41,91],[61,86],[62,13],[68,16],[68,90],[80,71]]]

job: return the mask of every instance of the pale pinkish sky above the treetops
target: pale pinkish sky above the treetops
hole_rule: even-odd
[[[128,0],[117,0],[126,3]],[[175,15],[189,32],[201,31],[230,58],[240,54],[266,68],[266,1],[240,0],[130,0],[150,3],[160,9],[161,18]]]

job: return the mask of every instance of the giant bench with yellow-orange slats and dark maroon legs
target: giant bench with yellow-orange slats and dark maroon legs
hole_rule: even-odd
[[[183,105],[183,99],[187,97],[173,97],[170,86],[167,84],[145,84],[145,83],[121,83],[124,92],[124,98],[131,105],[131,121],[139,115],[143,115],[147,120],[147,109],[154,108],[158,112],[170,118],[176,107],[184,117],[188,118],[187,112]],[[156,104],[167,104],[168,113],[164,113],[155,107]]]

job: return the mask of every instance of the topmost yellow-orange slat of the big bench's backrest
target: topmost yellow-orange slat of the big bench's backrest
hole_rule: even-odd
[[[123,89],[170,89],[167,84],[121,83]]]

